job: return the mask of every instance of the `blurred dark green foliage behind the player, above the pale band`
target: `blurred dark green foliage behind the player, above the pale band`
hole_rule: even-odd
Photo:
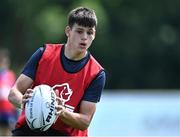
[[[179,0],[1,0],[0,42],[12,68],[44,43],[65,42],[66,16],[80,5],[97,11],[90,50],[106,69],[106,88],[180,88]]]

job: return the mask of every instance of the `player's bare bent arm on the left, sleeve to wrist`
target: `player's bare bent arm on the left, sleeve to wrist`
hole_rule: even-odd
[[[11,88],[8,99],[18,108],[21,108],[22,98],[28,88],[31,88],[33,80],[24,74],[21,74]]]

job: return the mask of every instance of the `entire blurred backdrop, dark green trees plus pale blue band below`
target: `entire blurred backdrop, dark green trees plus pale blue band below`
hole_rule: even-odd
[[[40,46],[65,43],[77,6],[97,13],[90,51],[107,74],[90,135],[180,135],[180,0],[1,0],[10,68],[18,76]]]

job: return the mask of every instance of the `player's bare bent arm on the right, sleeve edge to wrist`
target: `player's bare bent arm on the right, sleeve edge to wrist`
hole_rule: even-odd
[[[66,109],[62,109],[59,116],[61,120],[67,125],[80,130],[85,130],[90,125],[95,111],[96,103],[82,101],[80,104],[79,113],[74,113]]]

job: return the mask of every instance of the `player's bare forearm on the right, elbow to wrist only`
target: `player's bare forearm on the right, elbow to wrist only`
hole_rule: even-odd
[[[70,112],[68,110],[63,110],[60,118],[67,125],[80,130],[87,129],[91,121],[91,117],[87,115]]]

